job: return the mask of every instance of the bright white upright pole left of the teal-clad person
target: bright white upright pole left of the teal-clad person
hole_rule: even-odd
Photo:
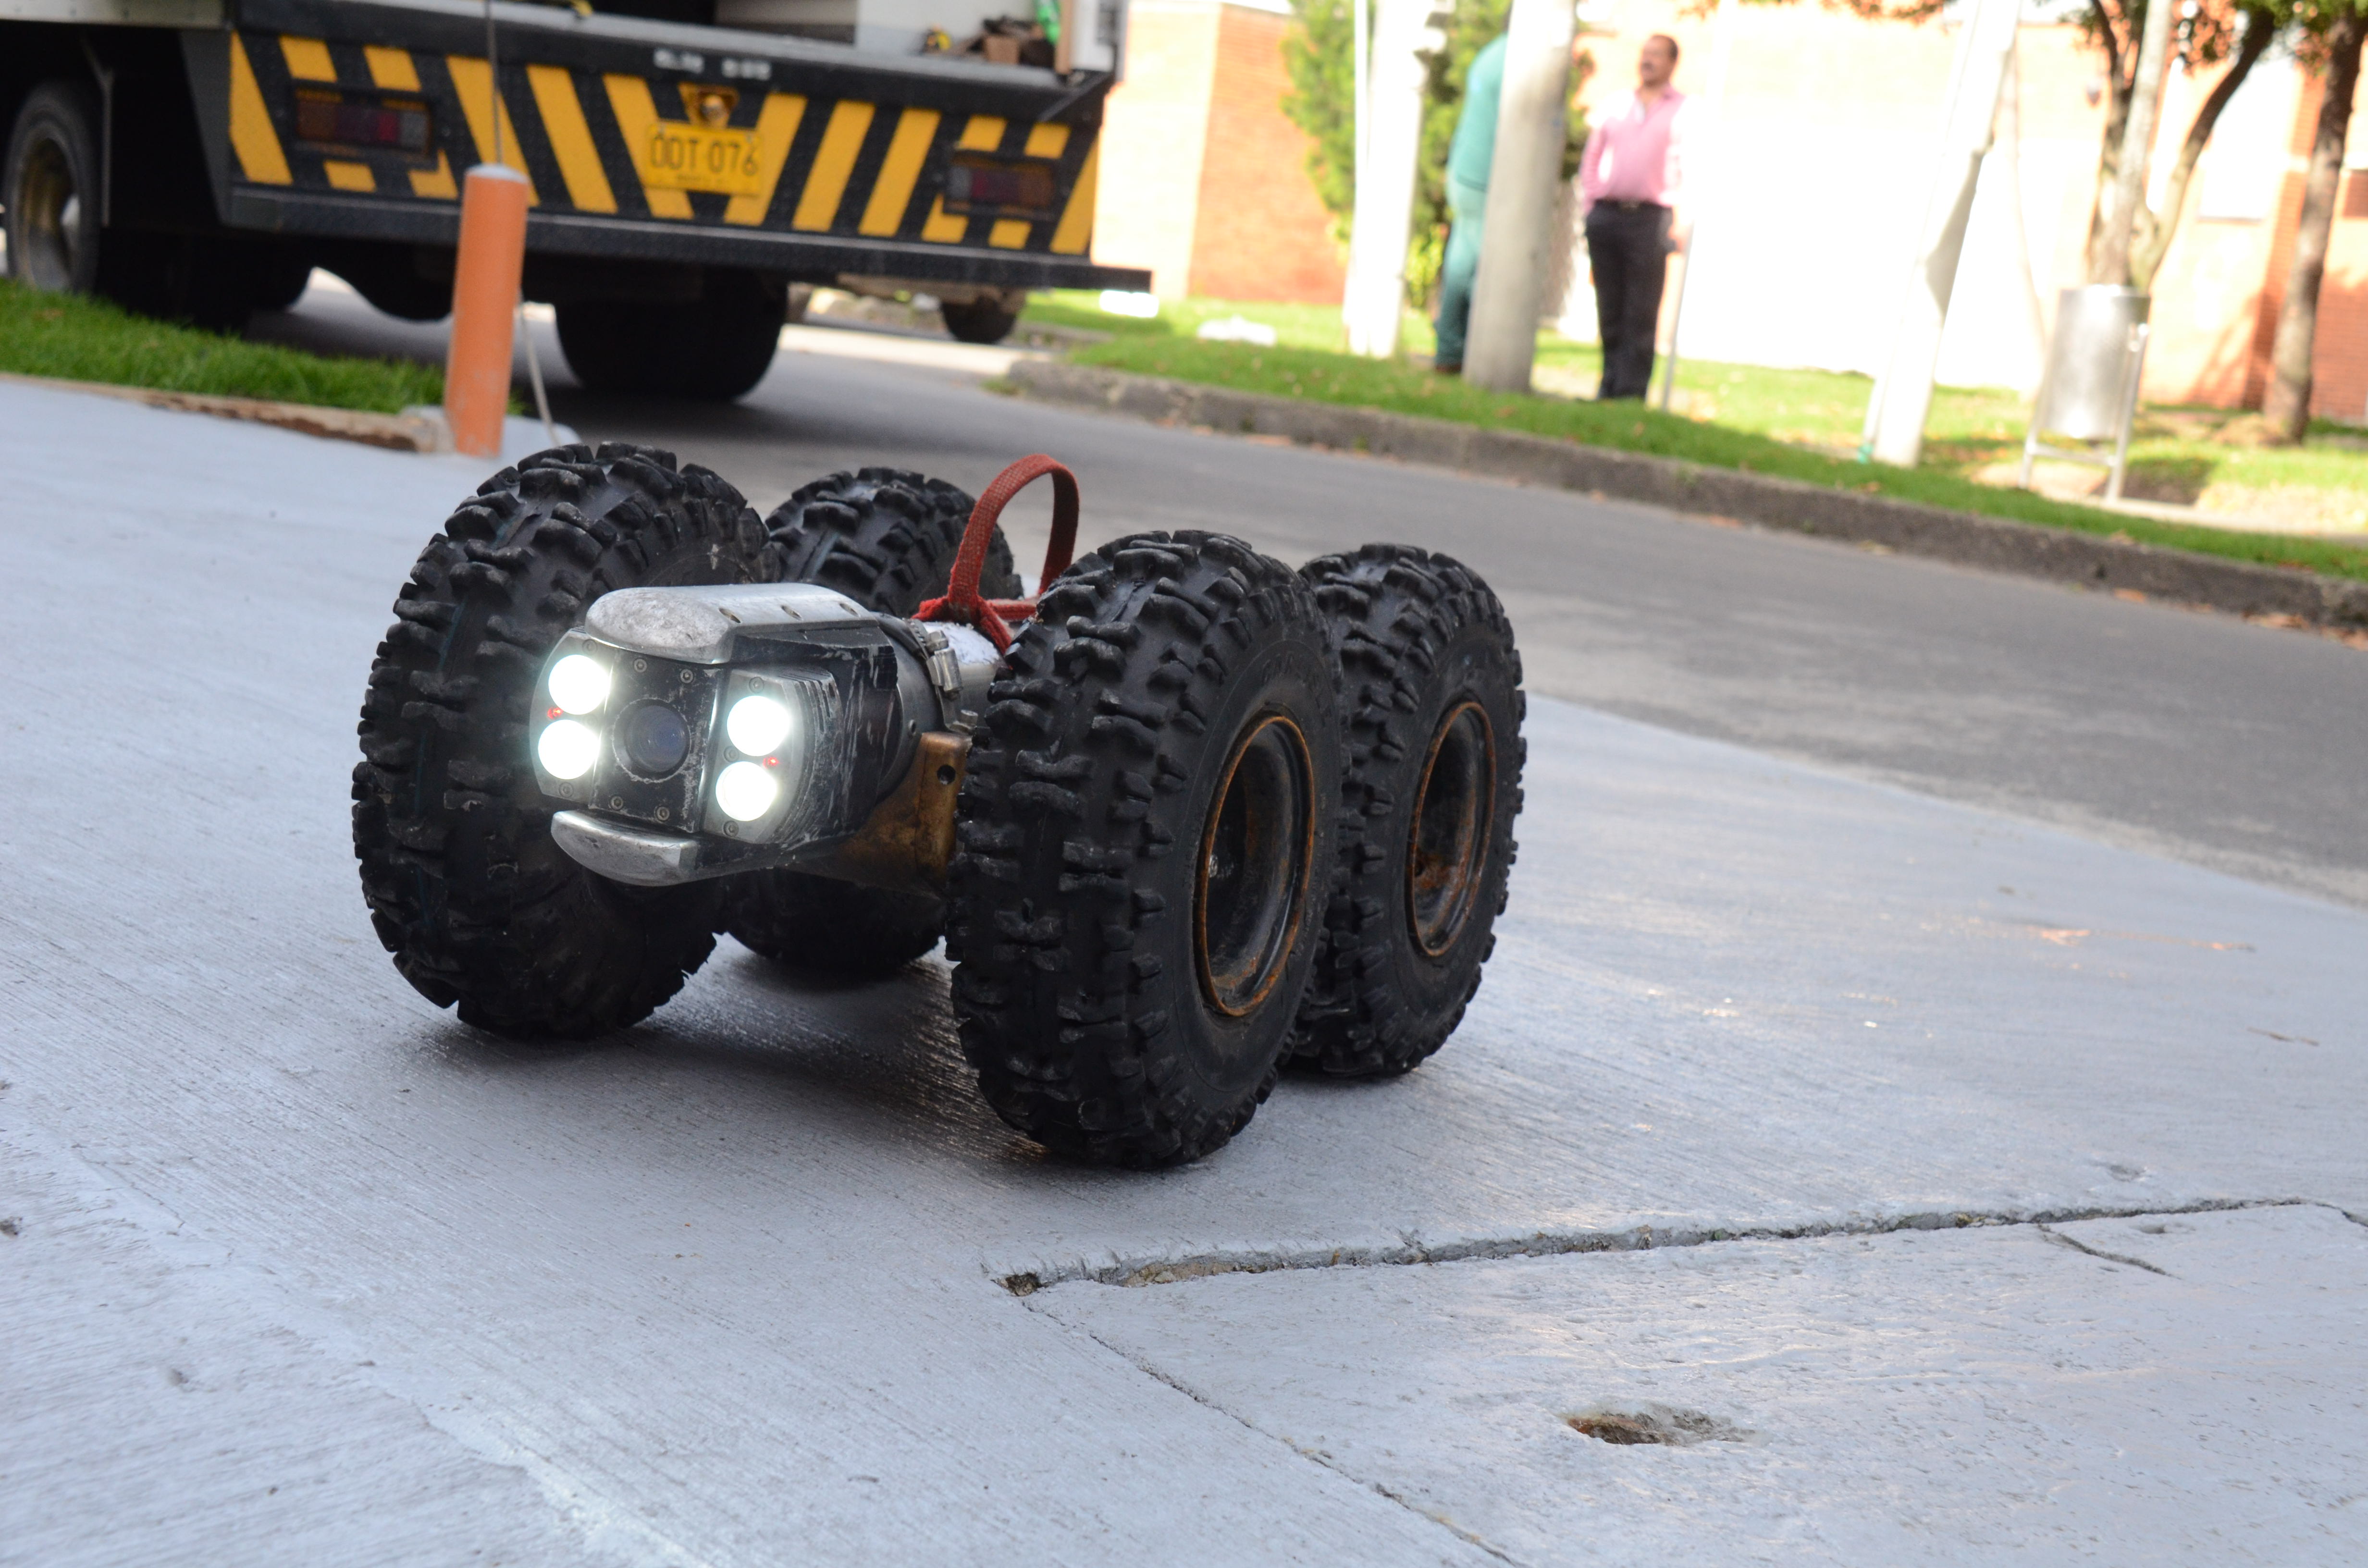
[[[1416,52],[1437,47],[1440,38],[1430,28],[1430,0],[1373,0],[1373,12],[1340,315],[1350,353],[1388,360],[1397,355],[1397,317],[1407,303],[1414,159],[1423,142],[1423,62]]]

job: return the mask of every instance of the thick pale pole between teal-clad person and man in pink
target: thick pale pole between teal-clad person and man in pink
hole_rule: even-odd
[[[1492,391],[1530,391],[1549,246],[1568,242],[1556,234],[1553,189],[1570,135],[1570,0],[1513,0],[1473,324],[1463,343],[1463,379]]]

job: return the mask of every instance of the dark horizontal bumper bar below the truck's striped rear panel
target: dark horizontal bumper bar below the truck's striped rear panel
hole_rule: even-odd
[[[230,225],[275,234],[313,234],[320,239],[393,239],[448,246],[459,239],[459,208],[242,185],[230,192]],[[852,234],[725,230],[635,218],[587,218],[578,213],[530,213],[526,220],[526,249],[549,256],[616,256],[748,268],[812,279],[852,272],[862,277],[914,277],[997,284],[1006,289],[1151,287],[1151,275],[1141,268],[1103,268],[1085,258],[1047,256],[1042,251],[997,251]]]

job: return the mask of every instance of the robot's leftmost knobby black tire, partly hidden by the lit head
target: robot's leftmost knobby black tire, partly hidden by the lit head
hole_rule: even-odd
[[[526,763],[542,658],[613,587],[753,583],[739,490],[670,452],[554,448],[429,540],[362,701],[353,853],[395,969],[464,1023],[580,1040],[646,1018],[715,947],[718,888],[628,888],[552,843]]]

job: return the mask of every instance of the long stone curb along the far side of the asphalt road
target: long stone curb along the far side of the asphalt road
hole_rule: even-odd
[[[1494,431],[1371,407],[1300,403],[1061,360],[1016,362],[1006,379],[1021,396],[1040,403],[1227,433],[1281,436],[1298,445],[1371,452],[1489,478],[1736,519],[1762,528],[1788,528],[1852,545],[1880,545],[1899,554],[1920,554],[1984,571],[2205,604],[2238,616],[2280,618],[2328,630],[2368,630],[2368,583],[2325,578],[2311,571],[2221,561],[2162,545],[2013,523],[1885,495],[1828,490],[1771,474],[1705,469],[1674,457],[1617,452],[1551,436]]]

